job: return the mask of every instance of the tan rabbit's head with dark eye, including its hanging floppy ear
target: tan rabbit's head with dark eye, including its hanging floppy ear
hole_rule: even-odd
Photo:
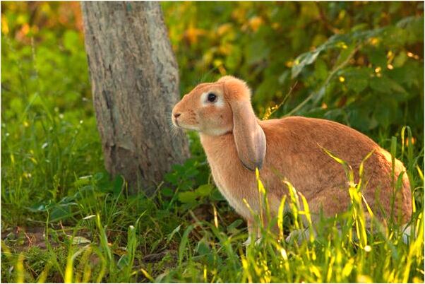
[[[232,133],[242,164],[249,170],[263,164],[265,135],[251,107],[251,90],[238,78],[197,85],[174,106],[172,122],[209,136]]]

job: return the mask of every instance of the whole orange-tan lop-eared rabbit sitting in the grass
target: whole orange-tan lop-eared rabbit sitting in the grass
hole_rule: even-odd
[[[199,132],[215,184],[246,220],[247,244],[251,235],[261,237],[246,205],[259,213],[256,168],[267,189],[272,217],[288,194],[282,177],[305,196],[312,218],[321,212],[334,216],[347,210],[350,199],[345,170],[323,148],[351,165],[354,174],[373,150],[364,163],[367,185],[362,194],[378,218],[390,216],[393,187],[388,151],[359,131],[325,119],[294,116],[259,120],[251,106],[251,90],[239,78],[223,76],[214,83],[200,83],[174,106],[172,122],[181,129]],[[412,194],[400,160],[395,160],[394,172],[395,180],[402,175],[394,212],[407,223],[412,215]],[[355,179],[359,179],[358,174]]]

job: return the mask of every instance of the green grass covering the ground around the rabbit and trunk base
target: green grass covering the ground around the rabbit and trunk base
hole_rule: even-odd
[[[150,198],[128,196],[121,178],[96,172],[102,170],[102,155],[94,119],[68,122],[66,117],[28,111],[2,126],[4,282],[424,280],[424,179],[418,164],[423,150],[416,153],[412,144],[397,143],[394,137],[390,149],[407,165],[415,198],[412,226],[417,237],[409,245],[395,224],[366,232],[359,206],[361,182],[352,180],[349,211],[322,218],[317,236],[301,244],[282,241],[303,226],[302,218],[309,220],[303,196],[288,184],[292,190],[285,202],[292,220],[288,214],[278,216],[284,224],[279,236],[263,227],[261,243],[245,248],[245,223],[208,185],[211,179],[195,134],[190,136],[194,157],[167,174],[169,188]],[[403,130],[402,138],[407,135],[412,135],[409,129]],[[267,191],[261,182],[258,189]],[[44,236],[30,232],[31,227]],[[30,244],[33,238],[45,249]]]

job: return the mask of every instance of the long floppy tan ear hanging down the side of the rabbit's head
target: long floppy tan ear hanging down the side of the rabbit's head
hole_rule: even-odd
[[[227,78],[226,78],[227,77]],[[233,112],[233,136],[239,160],[248,170],[263,166],[265,134],[251,106],[251,91],[244,81],[225,76],[223,86]],[[222,78],[222,79],[225,79]]]

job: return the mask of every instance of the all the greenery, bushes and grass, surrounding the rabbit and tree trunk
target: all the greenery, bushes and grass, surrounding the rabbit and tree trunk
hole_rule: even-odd
[[[79,4],[2,1],[1,280],[423,282],[423,5],[162,2],[182,94],[239,76],[259,117],[342,122],[409,172],[410,245],[395,227],[335,237],[348,214],[300,246],[264,232],[244,252],[244,221],[212,184],[196,134],[193,158],[152,198],[127,196],[104,172]]]

